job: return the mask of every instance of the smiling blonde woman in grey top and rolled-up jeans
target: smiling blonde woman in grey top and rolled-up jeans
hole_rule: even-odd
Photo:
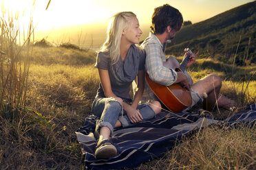
[[[116,156],[117,149],[109,139],[115,127],[125,127],[151,119],[161,110],[160,103],[139,104],[144,90],[145,52],[138,49],[142,31],[133,12],[112,16],[107,40],[98,53],[95,67],[100,86],[92,104],[92,114],[100,117],[94,133],[98,142],[96,158]],[[138,76],[138,90],[132,100],[131,83]]]

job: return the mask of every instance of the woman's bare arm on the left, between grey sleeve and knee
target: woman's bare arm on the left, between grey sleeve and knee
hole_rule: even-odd
[[[100,82],[103,86],[105,97],[117,97],[111,90],[109,72],[107,70],[98,69],[98,74],[100,75]]]

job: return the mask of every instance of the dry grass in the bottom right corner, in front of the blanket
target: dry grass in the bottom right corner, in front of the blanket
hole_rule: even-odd
[[[255,130],[246,125],[207,127],[138,169],[255,169]]]

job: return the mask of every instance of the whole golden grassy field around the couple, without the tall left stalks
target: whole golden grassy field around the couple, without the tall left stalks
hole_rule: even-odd
[[[34,47],[29,59],[25,108],[15,111],[12,118],[1,112],[0,168],[83,169],[74,132],[83,125],[98,88],[96,53]],[[216,73],[224,80],[224,95],[242,106],[255,102],[256,66],[233,69],[233,65],[211,59],[198,59],[194,65],[189,70],[193,80]],[[231,114],[226,110],[213,112],[216,118]],[[205,128],[138,169],[253,169],[255,134],[255,127],[245,125],[231,130]]]

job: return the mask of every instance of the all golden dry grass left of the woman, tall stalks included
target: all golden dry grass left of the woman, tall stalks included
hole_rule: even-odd
[[[74,132],[98,86],[95,52],[34,47],[32,18],[20,33],[19,13],[1,9],[0,169],[79,169]]]

